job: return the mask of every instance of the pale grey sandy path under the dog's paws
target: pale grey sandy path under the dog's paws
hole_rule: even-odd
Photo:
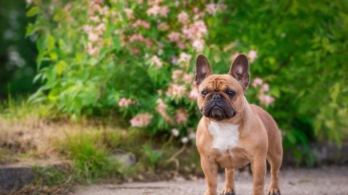
[[[252,177],[246,172],[236,174],[237,195],[250,195]],[[284,169],[280,174],[282,195],[348,195],[348,166],[316,169]],[[224,175],[219,175],[218,192],[222,189]],[[266,178],[265,193],[269,185]],[[124,184],[98,184],[81,186],[76,195],[202,195],[206,188],[204,179],[161,182],[134,182]]]

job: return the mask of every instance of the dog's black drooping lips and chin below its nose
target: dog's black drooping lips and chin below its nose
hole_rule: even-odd
[[[225,102],[207,102],[202,108],[202,114],[208,118],[221,121],[234,117],[236,112],[232,106]]]

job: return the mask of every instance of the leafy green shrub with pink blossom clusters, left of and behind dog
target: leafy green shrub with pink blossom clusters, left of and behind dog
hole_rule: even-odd
[[[48,92],[49,101],[73,116],[113,108],[130,116],[132,127],[171,130],[187,142],[200,117],[195,56],[219,55],[226,47],[214,45],[207,26],[225,9],[222,3],[162,0],[34,1],[29,13],[40,14],[28,34],[39,34],[37,78],[44,81],[37,97]],[[233,47],[223,52],[226,58],[213,65],[220,62],[227,72],[238,52]],[[253,63],[256,50],[248,54]],[[268,106],[275,99],[265,95],[269,85],[260,84],[250,90],[259,91],[259,102]]]

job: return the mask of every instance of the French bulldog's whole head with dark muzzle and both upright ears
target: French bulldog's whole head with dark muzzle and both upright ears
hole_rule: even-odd
[[[196,60],[195,80],[201,113],[213,121],[231,119],[243,107],[243,92],[249,85],[248,58],[240,54],[228,74],[214,75],[208,60],[200,54]]]

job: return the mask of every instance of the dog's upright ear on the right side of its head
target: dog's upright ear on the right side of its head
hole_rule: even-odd
[[[244,89],[249,86],[249,62],[244,53],[239,54],[233,61],[228,74],[237,79]]]

